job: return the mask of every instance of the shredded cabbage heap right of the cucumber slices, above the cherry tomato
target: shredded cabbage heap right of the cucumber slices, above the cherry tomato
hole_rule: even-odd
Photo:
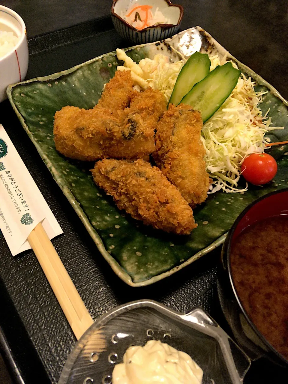
[[[241,164],[248,155],[264,152],[270,142],[265,134],[275,127],[270,127],[269,111],[262,116],[258,108],[267,92],[255,92],[254,85],[251,78],[242,73],[231,95],[203,126],[201,139],[206,150],[206,169],[213,178],[209,193],[220,189],[224,192],[247,190],[247,184],[244,189],[237,189]]]

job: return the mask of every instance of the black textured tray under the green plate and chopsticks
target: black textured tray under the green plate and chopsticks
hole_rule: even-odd
[[[183,24],[183,29],[193,26],[191,20]],[[213,28],[209,29],[205,24],[202,26],[213,35]],[[229,40],[227,37],[227,41],[217,35],[214,37],[230,49],[225,41],[231,43],[231,38]],[[28,44],[30,63],[26,79],[71,68],[129,43],[116,34],[111,18],[104,17],[37,36],[30,39]],[[242,57],[237,56],[239,50],[238,46],[235,50],[231,49],[231,52],[250,65],[243,58],[245,48]],[[259,68],[254,66],[253,69],[257,71]],[[265,77],[261,70],[259,73]],[[266,79],[275,85],[271,74],[269,67]],[[282,91],[285,82],[281,83],[277,74],[276,80]],[[127,301],[150,298],[182,312],[200,305],[231,334],[223,318],[216,289],[219,249],[152,286],[127,286],[117,278],[99,254],[83,224],[41,161],[8,101],[0,104],[0,122],[64,231],[63,235],[53,240],[53,244],[93,319]],[[2,354],[18,382],[56,383],[76,339],[33,252],[27,251],[13,258],[2,235],[0,249]],[[244,384],[282,383],[287,376],[287,371],[260,359],[252,364]]]

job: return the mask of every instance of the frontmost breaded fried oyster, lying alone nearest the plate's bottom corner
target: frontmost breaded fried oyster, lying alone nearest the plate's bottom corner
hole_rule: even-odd
[[[188,235],[197,227],[193,211],[159,168],[138,159],[104,159],[91,170],[94,181],[113,196],[119,209],[146,225]]]

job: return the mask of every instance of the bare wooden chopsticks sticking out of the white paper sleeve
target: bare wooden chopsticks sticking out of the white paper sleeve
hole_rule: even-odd
[[[93,324],[93,319],[41,223],[36,225],[30,233],[28,242],[55,293],[72,331],[79,340],[83,333]]]

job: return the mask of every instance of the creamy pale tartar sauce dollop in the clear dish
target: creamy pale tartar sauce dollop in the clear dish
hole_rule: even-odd
[[[129,347],[114,367],[113,384],[201,384],[203,371],[190,356],[161,341]]]

